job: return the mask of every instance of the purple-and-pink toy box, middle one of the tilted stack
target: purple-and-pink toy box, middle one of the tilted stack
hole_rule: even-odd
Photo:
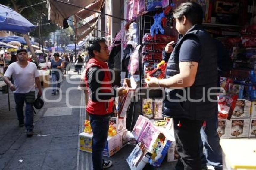
[[[151,149],[160,132],[151,123],[148,123],[143,129],[142,135],[138,141],[141,141],[146,148]]]

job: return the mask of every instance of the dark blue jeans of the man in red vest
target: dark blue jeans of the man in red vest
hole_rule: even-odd
[[[102,170],[102,154],[108,139],[110,115],[100,116],[90,114],[92,127],[92,165],[94,170]]]

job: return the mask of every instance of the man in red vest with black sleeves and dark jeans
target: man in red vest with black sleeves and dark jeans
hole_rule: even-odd
[[[122,87],[112,88],[108,63],[110,51],[101,37],[89,41],[89,60],[86,61],[85,83],[89,89],[86,111],[92,127],[92,164],[94,170],[109,168],[111,161],[104,161],[102,153],[108,138],[109,118],[113,113],[113,99],[127,91]],[[114,77],[114,76],[113,76]],[[114,81],[113,81],[114,82]]]

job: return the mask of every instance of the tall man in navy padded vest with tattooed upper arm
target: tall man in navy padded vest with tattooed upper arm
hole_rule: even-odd
[[[166,79],[150,78],[149,87],[164,87],[163,112],[173,117],[179,153],[176,169],[201,169],[200,129],[217,113],[217,51],[214,40],[201,26],[203,11],[194,2],[182,3],[173,13],[183,36],[166,61]],[[173,42],[167,45],[171,49]],[[214,93],[214,94],[213,94]]]

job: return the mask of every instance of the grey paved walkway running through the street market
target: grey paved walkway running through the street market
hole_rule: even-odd
[[[58,102],[45,101],[44,107],[36,110],[32,138],[27,138],[25,128],[18,126],[13,93],[10,92],[11,111],[8,111],[7,94],[0,93],[0,170],[92,169],[91,153],[80,151],[78,146],[85,109],[67,107],[69,103],[83,106],[84,94],[76,90],[78,84],[67,82],[67,76],[79,82],[80,76],[69,71],[64,75],[61,94],[52,96],[50,89],[45,91],[44,100],[58,101],[59,96],[62,98]],[[68,92],[70,87],[72,90]],[[133,148],[134,145],[127,145],[114,156],[105,157],[113,161],[114,165],[109,169],[128,170],[126,158]],[[161,168],[144,169],[173,169],[173,165],[165,161]]]

